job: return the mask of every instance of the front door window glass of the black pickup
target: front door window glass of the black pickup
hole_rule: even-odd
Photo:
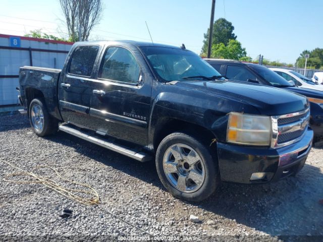
[[[99,78],[137,83],[139,72],[139,65],[128,49],[109,47],[102,60]]]

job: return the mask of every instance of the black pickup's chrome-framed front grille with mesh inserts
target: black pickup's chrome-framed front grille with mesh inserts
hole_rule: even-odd
[[[273,148],[297,142],[307,130],[309,108],[306,110],[273,117]]]

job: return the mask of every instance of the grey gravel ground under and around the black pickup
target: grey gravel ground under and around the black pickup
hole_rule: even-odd
[[[107,236],[150,233],[200,241],[204,235],[223,241],[321,241],[322,157],[323,149],[313,148],[296,177],[257,186],[223,183],[206,201],[187,203],[163,188],[153,162],[140,163],[62,132],[40,138],[25,115],[0,113],[0,158],[26,170],[55,167],[67,178],[91,185],[101,199],[98,206],[82,205],[42,185],[5,182],[15,169],[0,161],[0,240],[74,235],[111,241]],[[49,170],[45,174],[56,179]],[[73,216],[59,217],[63,208],[73,210]],[[190,215],[201,221],[190,221]]]

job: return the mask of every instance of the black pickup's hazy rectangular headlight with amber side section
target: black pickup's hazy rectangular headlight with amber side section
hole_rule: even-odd
[[[227,142],[269,146],[272,140],[271,131],[270,116],[231,112],[229,114]]]

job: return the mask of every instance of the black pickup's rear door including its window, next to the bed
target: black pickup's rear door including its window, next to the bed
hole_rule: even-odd
[[[65,122],[88,128],[91,75],[99,53],[98,45],[77,46],[59,81],[59,107]]]

